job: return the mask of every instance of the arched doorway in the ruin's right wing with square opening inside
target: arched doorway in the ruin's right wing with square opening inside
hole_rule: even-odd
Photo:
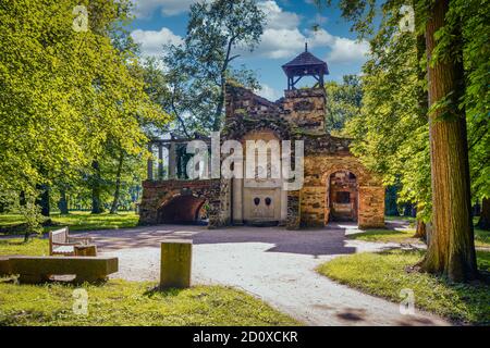
[[[329,221],[357,222],[358,183],[350,171],[336,171],[328,178]]]

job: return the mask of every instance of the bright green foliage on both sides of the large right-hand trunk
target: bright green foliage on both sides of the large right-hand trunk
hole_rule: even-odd
[[[362,113],[347,124],[346,133],[355,138],[354,152],[369,169],[380,173],[388,185],[401,184],[399,201],[416,203],[418,217],[428,221],[431,186],[427,111],[442,104],[453,114],[465,110],[473,198],[490,194],[490,14],[488,1],[451,1],[446,25],[437,33],[438,46],[430,63],[440,59],[463,60],[465,96],[453,100],[449,95],[427,110],[427,58],[419,40],[424,42],[431,2],[417,1],[415,32],[401,32],[400,10],[411,4],[399,0],[377,5],[366,0],[340,2],[344,17],[354,22],[353,29],[359,37],[369,38],[371,47],[371,57],[364,66]],[[377,9],[381,10],[380,21],[373,21]],[[453,33],[462,34],[463,47],[456,45]]]

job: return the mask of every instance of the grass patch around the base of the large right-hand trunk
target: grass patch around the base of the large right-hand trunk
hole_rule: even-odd
[[[490,271],[490,252],[478,251],[481,270]],[[391,250],[355,253],[321,264],[317,271],[339,283],[400,302],[400,290],[415,294],[417,308],[457,322],[490,324],[490,286],[451,284],[425,273],[407,273],[405,268],[421,260],[424,251]]]

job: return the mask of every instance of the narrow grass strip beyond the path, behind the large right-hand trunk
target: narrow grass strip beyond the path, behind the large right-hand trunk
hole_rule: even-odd
[[[415,229],[368,229],[363,233],[348,235],[347,238],[378,243],[421,244],[420,239],[412,238],[414,234]],[[475,246],[490,248],[490,231],[475,228]]]

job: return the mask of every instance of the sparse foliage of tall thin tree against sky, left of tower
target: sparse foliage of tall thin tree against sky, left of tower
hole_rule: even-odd
[[[226,79],[257,87],[252,72],[234,69],[236,49],[253,51],[265,14],[253,0],[215,0],[191,5],[187,34],[180,46],[166,49],[163,64],[172,97],[166,110],[177,121],[177,132],[219,130]]]

